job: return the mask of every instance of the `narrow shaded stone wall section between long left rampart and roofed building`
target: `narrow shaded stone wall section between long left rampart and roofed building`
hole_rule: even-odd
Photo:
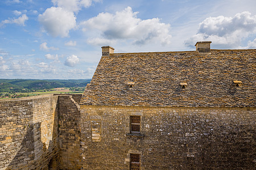
[[[60,169],[80,169],[80,101],[81,95],[61,95],[58,100]]]

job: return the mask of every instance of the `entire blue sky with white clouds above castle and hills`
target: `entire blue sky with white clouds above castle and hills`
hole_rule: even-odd
[[[255,0],[1,0],[0,79],[88,79],[115,53],[256,48]]]

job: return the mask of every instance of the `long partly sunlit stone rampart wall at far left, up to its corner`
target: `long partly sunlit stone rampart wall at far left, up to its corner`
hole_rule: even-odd
[[[59,168],[56,104],[53,95],[0,100],[0,169]]]

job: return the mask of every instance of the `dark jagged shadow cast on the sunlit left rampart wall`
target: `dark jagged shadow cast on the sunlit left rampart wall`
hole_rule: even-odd
[[[58,110],[57,102],[54,100],[57,99],[53,97],[51,100],[52,104],[56,103],[51,108],[52,113],[54,113],[51,140],[46,143],[42,142],[42,123],[46,121],[44,124],[48,126],[51,122],[40,120],[34,123],[34,113],[32,112],[30,123],[26,124],[23,129],[19,129],[21,132],[26,130],[26,134],[20,145],[17,146],[19,147],[17,148],[18,151],[7,168],[5,167],[6,169],[60,169]]]

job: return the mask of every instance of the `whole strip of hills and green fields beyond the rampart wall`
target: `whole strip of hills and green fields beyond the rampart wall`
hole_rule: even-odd
[[[0,99],[47,94],[82,94],[90,79],[0,79]]]

